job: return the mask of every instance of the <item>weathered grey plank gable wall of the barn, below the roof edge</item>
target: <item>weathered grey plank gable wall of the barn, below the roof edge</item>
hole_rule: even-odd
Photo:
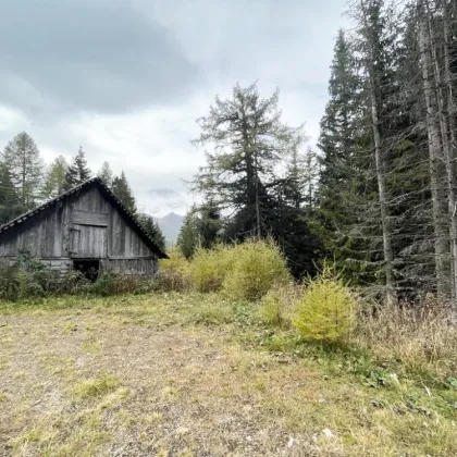
[[[32,257],[60,260],[103,259],[106,270],[151,274],[158,256],[127,220],[97,188],[83,189],[9,228],[0,236],[0,257],[14,258],[20,250]]]

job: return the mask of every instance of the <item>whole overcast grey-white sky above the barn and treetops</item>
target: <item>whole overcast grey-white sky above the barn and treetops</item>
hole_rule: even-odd
[[[140,210],[184,213],[189,144],[214,96],[280,87],[316,141],[344,0],[2,0],[0,148],[18,132],[46,161],[79,145],[125,171]]]

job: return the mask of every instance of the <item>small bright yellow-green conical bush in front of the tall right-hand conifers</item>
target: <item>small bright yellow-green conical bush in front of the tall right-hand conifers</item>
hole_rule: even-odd
[[[306,339],[339,342],[354,330],[357,298],[330,268],[308,283],[297,304],[294,325]]]

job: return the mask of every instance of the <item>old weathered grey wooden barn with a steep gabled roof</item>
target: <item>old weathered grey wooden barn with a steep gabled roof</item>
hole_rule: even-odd
[[[91,178],[0,226],[0,261],[27,252],[62,272],[152,275],[166,258],[133,214]]]

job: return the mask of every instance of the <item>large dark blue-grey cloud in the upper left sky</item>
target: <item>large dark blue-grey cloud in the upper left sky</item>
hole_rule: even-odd
[[[127,0],[7,0],[0,100],[29,116],[125,113],[180,99],[198,70]]]

